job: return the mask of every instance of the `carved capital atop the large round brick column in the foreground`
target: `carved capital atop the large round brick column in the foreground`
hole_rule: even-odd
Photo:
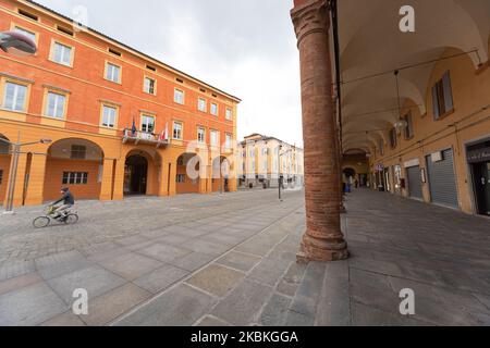
[[[308,0],[291,10],[297,45],[309,34],[324,33],[330,28],[328,0]]]

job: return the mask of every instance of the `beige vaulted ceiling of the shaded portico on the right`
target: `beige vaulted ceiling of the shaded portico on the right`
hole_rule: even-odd
[[[399,11],[406,4],[415,9],[415,33],[399,29]],[[402,69],[401,103],[412,100],[424,114],[434,63],[419,63],[442,58],[448,48],[476,51],[468,53],[475,69],[489,59],[489,0],[338,0],[338,5],[344,152],[387,140],[399,120],[394,70]],[[417,66],[403,70],[409,65]]]

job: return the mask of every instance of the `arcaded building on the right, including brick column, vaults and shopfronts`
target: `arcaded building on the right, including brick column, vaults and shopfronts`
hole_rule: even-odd
[[[369,167],[375,189],[489,215],[490,2],[293,2],[307,224],[298,258],[348,257],[339,183],[352,157],[365,159],[358,170]]]

